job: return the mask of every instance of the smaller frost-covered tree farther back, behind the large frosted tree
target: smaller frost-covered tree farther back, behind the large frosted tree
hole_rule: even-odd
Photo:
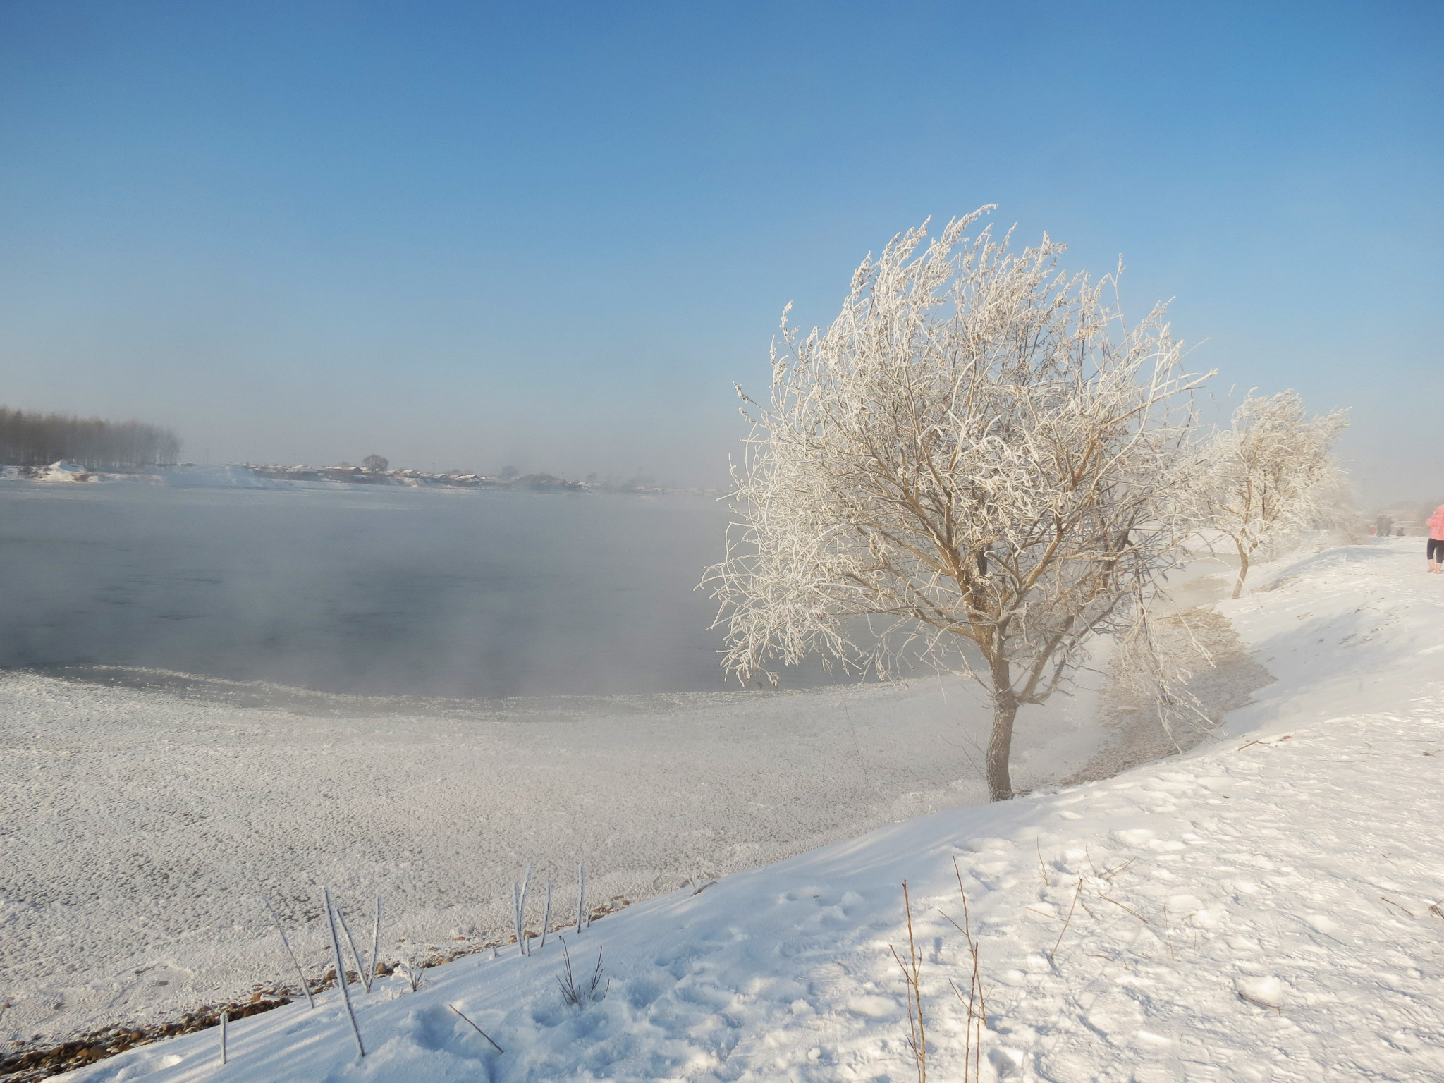
[[[1233,412],[1233,426],[1204,446],[1194,492],[1201,500],[1203,524],[1226,534],[1238,549],[1235,598],[1259,547],[1269,549],[1333,518],[1343,484],[1333,448],[1347,427],[1343,410],[1310,417],[1297,391],[1249,393]]]

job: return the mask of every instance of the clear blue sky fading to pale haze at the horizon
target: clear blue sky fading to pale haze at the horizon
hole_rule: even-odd
[[[0,400],[715,482],[788,300],[1001,205],[1444,497],[1444,6],[0,4]]]

